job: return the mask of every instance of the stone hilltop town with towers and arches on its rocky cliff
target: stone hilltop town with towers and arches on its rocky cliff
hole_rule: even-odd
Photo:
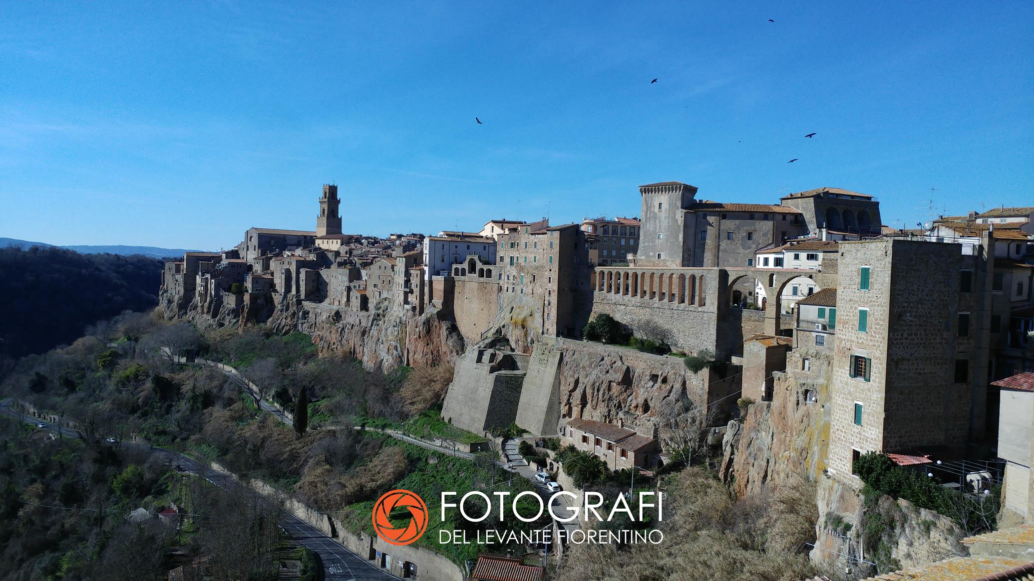
[[[312,231],[253,227],[166,263],[160,306],[302,330],[371,368],[454,361],[442,417],[477,434],[517,426],[641,471],[704,441],[739,492],[804,476],[812,558],[840,569],[875,558],[869,452],[974,494],[1003,485],[1000,525],[1034,522],[1034,207],[905,230],[840,188],[638,195],[639,218],[382,238],[343,233],[348,202],[325,185]],[[896,526],[902,567],[967,554],[940,526]]]

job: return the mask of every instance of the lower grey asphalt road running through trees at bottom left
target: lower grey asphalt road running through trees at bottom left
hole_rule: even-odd
[[[10,399],[0,400],[0,414],[21,419],[27,423],[40,423],[36,418],[21,414],[10,408]],[[78,438],[79,432],[66,427],[59,428],[57,425],[41,422],[43,429],[58,431],[68,438]],[[147,444],[129,444],[130,446],[150,447]],[[155,454],[166,458],[170,463],[179,464],[184,472],[193,473],[208,480],[212,484],[224,490],[248,491],[244,485],[233,478],[216,472],[207,464],[202,463],[189,456],[184,456],[172,450],[163,448],[151,448]],[[324,579],[326,581],[384,581],[398,579],[367,561],[365,558],[348,551],[336,541],[321,532],[317,528],[310,526],[298,517],[284,513],[280,519],[280,526],[304,547],[311,549],[320,555],[320,560],[324,567]]]

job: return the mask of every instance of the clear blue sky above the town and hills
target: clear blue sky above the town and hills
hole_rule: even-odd
[[[0,236],[231,247],[313,228],[331,181],[379,235],[638,216],[668,180],[899,226],[932,187],[1034,204],[1027,1],[165,4],[0,8]]]

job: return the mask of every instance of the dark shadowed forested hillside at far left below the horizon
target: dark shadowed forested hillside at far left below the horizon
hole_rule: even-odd
[[[163,262],[59,248],[0,249],[0,355],[67,345],[87,327],[158,302]]]

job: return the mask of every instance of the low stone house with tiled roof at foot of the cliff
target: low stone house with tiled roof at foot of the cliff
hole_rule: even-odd
[[[564,445],[591,452],[610,470],[650,466],[660,450],[653,438],[596,420],[570,419],[560,433]]]

